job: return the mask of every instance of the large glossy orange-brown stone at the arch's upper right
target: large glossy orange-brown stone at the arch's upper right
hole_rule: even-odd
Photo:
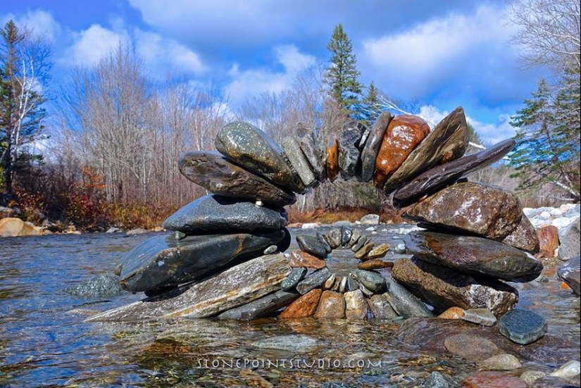
[[[383,188],[411,151],[430,133],[430,125],[413,115],[398,115],[389,123],[375,159],[373,184]]]

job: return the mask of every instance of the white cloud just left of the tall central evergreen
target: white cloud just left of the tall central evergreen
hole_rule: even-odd
[[[228,73],[232,81],[226,87],[232,104],[239,104],[250,96],[264,92],[278,94],[290,89],[296,74],[315,63],[313,56],[301,54],[295,46],[278,46],[274,51],[278,63],[284,68],[282,72],[265,68],[242,71],[239,65],[232,65]]]

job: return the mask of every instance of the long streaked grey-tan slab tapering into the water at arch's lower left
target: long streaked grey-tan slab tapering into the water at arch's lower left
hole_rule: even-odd
[[[278,291],[290,272],[284,254],[261,256],[203,282],[93,315],[87,321],[209,317]]]

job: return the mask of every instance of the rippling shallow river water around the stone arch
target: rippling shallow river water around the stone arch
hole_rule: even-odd
[[[380,226],[374,242],[396,246],[405,227]],[[452,354],[398,342],[394,333],[400,320],[85,323],[89,315],[143,295],[87,300],[63,289],[113,273],[120,255],[149,237],[63,234],[0,240],[0,387],[421,387],[435,370],[457,382],[477,372],[474,363]],[[349,252],[333,256],[330,266],[336,272],[354,268]],[[520,287],[519,306],[541,313],[549,333],[578,342],[579,298],[561,289],[551,273],[546,280]],[[257,346],[288,334],[317,342],[303,344],[304,337],[295,337],[287,350]],[[555,367],[523,361],[512,374]]]

